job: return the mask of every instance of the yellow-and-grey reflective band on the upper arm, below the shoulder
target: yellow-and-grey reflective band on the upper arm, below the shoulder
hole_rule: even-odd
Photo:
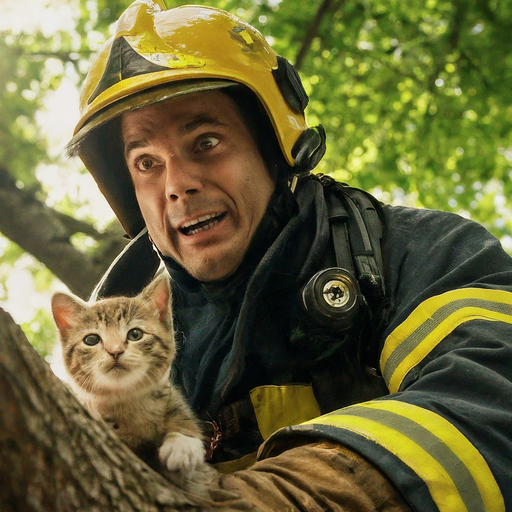
[[[464,288],[427,299],[386,339],[380,367],[391,393],[409,371],[464,322],[488,320],[512,323],[512,293]]]

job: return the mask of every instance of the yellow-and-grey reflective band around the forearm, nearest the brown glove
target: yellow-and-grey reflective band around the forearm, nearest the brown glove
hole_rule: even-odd
[[[441,512],[504,512],[485,459],[438,414],[396,400],[373,400],[310,420],[349,430],[384,447],[409,466]]]

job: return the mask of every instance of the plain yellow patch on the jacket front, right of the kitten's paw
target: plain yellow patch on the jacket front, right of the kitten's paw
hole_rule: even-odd
[[[281,427],[320,415],[311,385],[260,386],[250,392],[250,397],[263,439]]]

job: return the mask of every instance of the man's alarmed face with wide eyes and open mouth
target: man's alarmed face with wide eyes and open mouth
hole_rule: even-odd
[[[201,281],[233,273],[275,188],[235,102],[187,94],[124,114],[122,134],[158,249]]]

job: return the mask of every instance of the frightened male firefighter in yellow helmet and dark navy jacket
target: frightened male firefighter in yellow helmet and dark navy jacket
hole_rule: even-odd
[[[95,297],[170,274],[174,378],[240,510],[511,509],[510,258],[312,173],[307,102],[237,17],[128,7],[69,145],[132,239]]]

